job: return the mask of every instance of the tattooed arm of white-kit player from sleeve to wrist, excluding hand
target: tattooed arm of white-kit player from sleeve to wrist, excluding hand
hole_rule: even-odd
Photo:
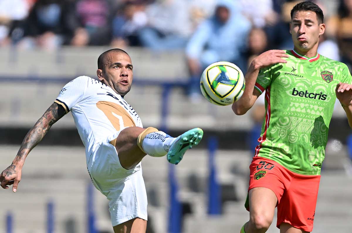
[[[27,133],[15,159],[23,160],[26,158],[34,146],[43,139],[50,127],[65,114],[66,112],[61,105],[53,103]]]

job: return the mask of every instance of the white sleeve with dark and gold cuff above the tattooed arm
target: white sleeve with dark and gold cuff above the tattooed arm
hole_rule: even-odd
[[[61,105],[66,113],[68,113],[71,108],[83,98],[88,85],[88,78],[87,76],[79,76],[67,83],[61,89],[54,102]]]

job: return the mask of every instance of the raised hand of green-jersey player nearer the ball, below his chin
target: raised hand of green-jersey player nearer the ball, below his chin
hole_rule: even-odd
[[[254,58],[252,64],[254,65],[255,69],[261,69],[276,63],[287,63],[283,57],[289,57],[288,54],[283,50],[268,50]]]

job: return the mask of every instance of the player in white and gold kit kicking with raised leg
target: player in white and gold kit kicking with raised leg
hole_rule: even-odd
[[[134,109],[123,99],[130,89],[133,66],[121,49],[98,58],[99,80],[80,76],[67,83],[57,99],[27,133],[12,164],[0,176],[1,187],[15,192],[29,152],[56,121],[71,111],[86,147],[86,161],[94,186],[109,200],[114,232],[145,233],[147,197],[141,160],[148,154],[167,156],[177,164],[186,150],[202,139],[200,128],[177,138],[156,128],[143,128]]]

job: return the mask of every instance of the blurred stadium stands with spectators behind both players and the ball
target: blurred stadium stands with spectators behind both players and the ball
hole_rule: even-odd
[[[199,91],[205,65],[231,61],[246,70],[268,49],[291,49],[284,0],[0,0],[0,168],[11,164],[27,131],[65,83],[96,77],[96,61],[125,49],[134,65],[126,95],[144,126],[178,135],[205,131],[177,165],[146,157],[148,233],[239,232],[248,166],[263,100],[244,116],[208,103]],[[319,53],[351,70],[352,0],[316,1],[327,30]],[[217,20],[217,21],[216,21]],[[220,23],[219,23],[220,22]],[[330,124],[315,212],[319,233],[350,233],[351,130],[339,104]],[[17,193],[0,190],[0,232],[112,232],[108,202],[92,188],[70,114],[30,153]],[[170,221],[170,215],[173,221]],[[276,218],[268,232],[278,232]]]

